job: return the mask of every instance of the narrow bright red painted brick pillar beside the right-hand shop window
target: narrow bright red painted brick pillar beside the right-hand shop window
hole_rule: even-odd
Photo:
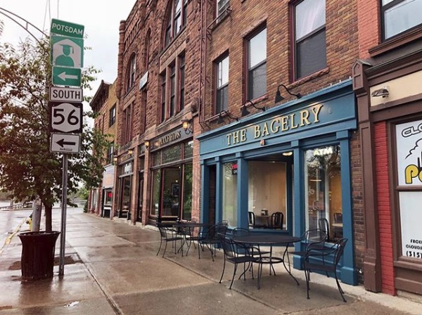
[[[380,226],[380,251],[383,293],[395,295],[394,267],[392,256],[392,221],[389,190],[389,161],[387,124],[380,122],[375,125],[376,152],[376,194],[378,198],[378,220]]]

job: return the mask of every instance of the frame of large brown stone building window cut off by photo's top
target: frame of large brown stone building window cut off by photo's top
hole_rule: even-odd
[[[180,12],[176,12],[177,1],[181,1]],[[167,46],[169,46],[173,39],[176,38],[177,35],[179,35],[181,31],[184,30],[187,22],[188,0],[172,0],[169,2],[168,6],[169,7],[167,8],[167,18],[165,19],[166,23],[164,24],[166,25],[166,27],[162,34],[162,49],[165,49]],[[179,16],[181,25],[179,27],[179,30],[177,30],[174,21],[179,19]]]

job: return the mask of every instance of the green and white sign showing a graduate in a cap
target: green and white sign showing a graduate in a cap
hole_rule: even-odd
[[[51,35],[51,64],[59,67],[84,66],[84,39]]]

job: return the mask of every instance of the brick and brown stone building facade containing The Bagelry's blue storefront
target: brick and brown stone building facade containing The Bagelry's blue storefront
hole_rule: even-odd
[[[136,1],[120,24],[113,214],[294,235],[324,226],[330,242],[349,239],[340,278],[356,284],[357,15],[346,0]]]

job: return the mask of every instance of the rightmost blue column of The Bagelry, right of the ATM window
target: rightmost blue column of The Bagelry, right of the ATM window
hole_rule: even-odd
[[[352,215],[352,174],[350,172],[350,141],[348,131],[339,131],[341,165],[341,198],[343,207],[343,237],[348,238],[343,253],[341,280],[344,283],[357,285],[357,269],[354,267],[354,238]]]

